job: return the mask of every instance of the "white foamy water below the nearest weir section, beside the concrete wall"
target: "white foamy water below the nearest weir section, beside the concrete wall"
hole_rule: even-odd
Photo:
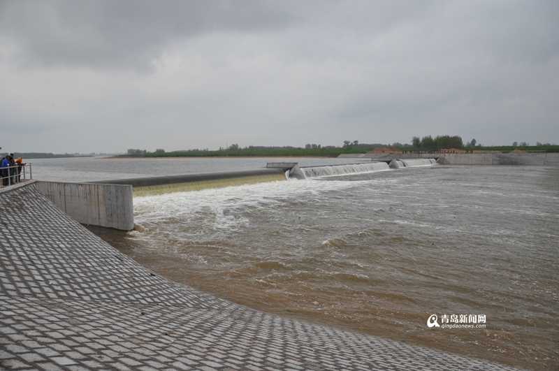
[[[360,183],[317,182],[289,180],[138,196],[134,198],[134,218],[136,224],[146,228],[165,228],[170,237],[202,242],[238,231],[248,223],[250,213],[257,210],[305,204],[337,189],[358,187]]]

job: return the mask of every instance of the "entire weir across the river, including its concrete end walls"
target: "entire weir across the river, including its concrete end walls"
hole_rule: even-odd
[[[559,153],[536,154],[346,154],[340,157],[370,159],[370,163],[300,168],[295,162],[270,162],[266,168],[228,173],[171,175],[90,183],[39,182],[50,201],[82,224],[130,231],[134,228],[133,196],[194,191],[205,188],[345,175],[437,163],[456,165],[559,166]]]

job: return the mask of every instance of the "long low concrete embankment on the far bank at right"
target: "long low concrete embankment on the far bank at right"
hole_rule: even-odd
[[[340,154],[346,159],[370,159],[392,161],[393,159],[437,159],[444,165],[527,165],[559,166],[559,153],[456,153],[456,154]]]

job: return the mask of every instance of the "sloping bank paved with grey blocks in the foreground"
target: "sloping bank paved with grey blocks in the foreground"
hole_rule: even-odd
[[[516,370],[171,282],[68,217],[34,181],[0,190],[0,212],[2,370]]]

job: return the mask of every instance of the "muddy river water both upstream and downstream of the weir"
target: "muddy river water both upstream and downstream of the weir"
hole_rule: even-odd
[[[559,368],[559,168],[64,159],[58,168],[35,160],[34,178],[270,161],[337,166],[303,168],[307,180],[136,197],[143,232],[96,233],[161,275],[258,310],[531,370]],[[428,327],[433,314],[437,326]],[[453,319],[485,326],[443,328]]]

